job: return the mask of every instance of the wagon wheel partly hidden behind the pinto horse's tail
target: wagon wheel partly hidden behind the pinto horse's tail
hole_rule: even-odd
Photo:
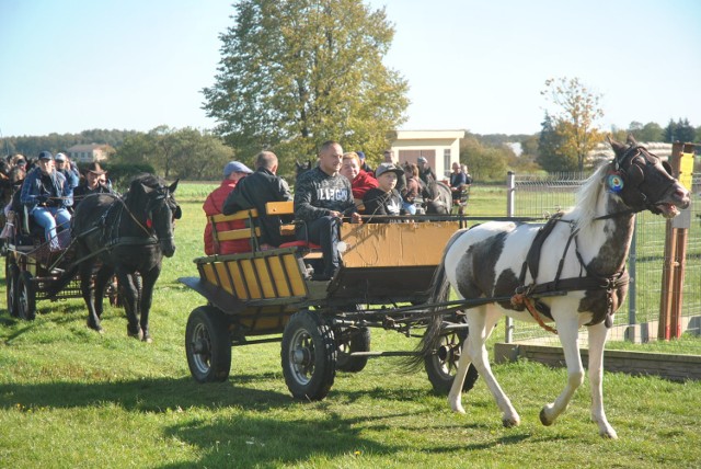
[[[447,394],[450,391],[455,375],[458,371],[460,348],[467,338],[467,329],[443,335],[435,353],[424,358],[426,374],[434,387],[434,391],[441,394]],[[462,384],[462,390],[468,392],[472,389],[479,376],[476,368],[470,364]]]

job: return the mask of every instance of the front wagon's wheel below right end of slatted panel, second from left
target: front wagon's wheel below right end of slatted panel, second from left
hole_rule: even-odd
[[[296,399],[322,400],[336,376],[333,331],[315,311],[301,310],[283,332],[283,375]]]

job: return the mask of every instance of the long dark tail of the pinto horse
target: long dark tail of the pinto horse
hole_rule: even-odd
[[[440,263],[434,272],[434,276],[430,281],[432,291],[428,299],[428,313],[430,317],[428,319],[428,325],[426,327],[426,333],[424,333],[424,336],[421,339],[421,342],[416,347],[417,353],[409,359],[407,365],[412,369],[420,368],[424,364],[424,358],[433,355],[436,351],[436,346],[440,342],[440,336],[444,332],[444,314],[440,312],[441,307],[437,307],[436,305],[448,301],[450,296],[450,282],[448,282],[448,276],[446,275],[446,255],[450,250],[450,247],[463,232],[464,230],[459,230],[452,234],[450,240],[448,240],[448,243],[443,251]]]

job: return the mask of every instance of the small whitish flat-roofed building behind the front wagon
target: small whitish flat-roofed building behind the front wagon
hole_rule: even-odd
[[[391,150],[400,163],[416,163],[424,157],[436,176],[448,176],[453,162],[460,162],[460,139],[464,130],[397,130]]]

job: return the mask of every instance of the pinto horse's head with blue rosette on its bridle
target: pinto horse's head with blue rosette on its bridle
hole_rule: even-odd
[[[607,175],[609,191],[618,194],[634,211],[650,210],[665,218],[679,215],[687,208],[690,197],[679,181],[671,176],[666,161],[628,137],[628,145],[609,139],[616,156]]]

